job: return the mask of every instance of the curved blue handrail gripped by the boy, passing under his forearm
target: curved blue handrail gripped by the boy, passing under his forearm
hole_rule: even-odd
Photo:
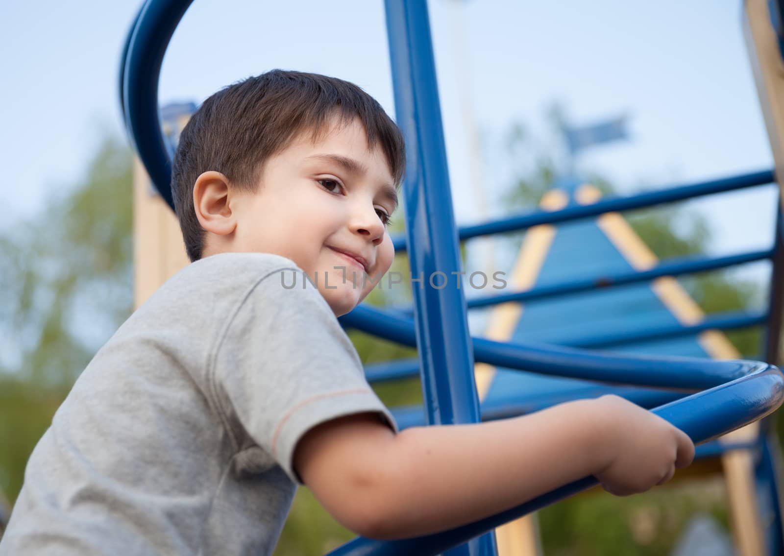
[[[784,402],[784,376],[776,367],[760,364],[760,368],[748,376],[710,391],[662,405],[653,412],[685,431],[695,443],[702,443],[769,415],[782,402]],[[449,547],[463,543],[488,529],[539,510],[594,485],[597,485],[597,480],[586,477],[511,510],[435,535],[394,541],[358,538],[332,551],[330,556],[440,554]]]

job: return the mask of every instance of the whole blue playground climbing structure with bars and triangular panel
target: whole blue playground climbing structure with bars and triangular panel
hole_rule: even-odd
[[[120,71],[127,129],[169,206],[171,151],[159,116],[158,75],[172,33],[191,2],[147,0],[132,25]],[[784,53],[781,3],[771,0],[766,14],[768,25],[777,33],[776,44],[782,47],[777,53],[779,63]],[[414,288],[412,311],[362,305],[341,318],[347,329],[419,348],[415,360],[366,369],[371,381],[421,376],[424,407],[398,409],[399,425],[475,423],[575,398],[621,395],[684,430],[700,444],[698,457],[739,449],[753,454],[764,554],[784,556],[782,469],[774,423],[768,417],[784,402],[784,376],[774,366],[779,360],[784,302],[781,206],[771,249],[661,263],[635,246],[615,214],[771,184],[777,173],[765,170],[607,199],[578,178],[564,177],[550,192],[546,210],[457,228],[426,2],[387,0],[386,13],[397,123],[408,147],[408,176],[403,186],[406,234],[394,238],[394,245],[397,251],[407,251],[412,275],[461,271],[459,242],[470,238],[528,230],[526,241],[542,242],[538,262],[525,260],[521,254],[521,264],[533,265],[535,273],[528,285],[518,285],[512,293],[503,291],[466,302],[464,289]],[[769,131],[771,125],[775,128],[769,123]],[[543,225],[552,228],[556,224],[547,238],[536,239]],[[577,245],[591,247],[575,249]],[[672,277],[757,260],[772,261],[767,311],[706,318],[695,317],[691,307],[691,317],[687,315],[688,300]],[[503,339],[470,336],[469,309],[510,302],[525,302],[526,306],[524,314],[506,327]],[[720,353],[726,344],[722,348],[711,331],[752,325],[765,327],[766,362],[710,359],[727,354],[726,350]],[[603,351],[593,351],[597,348]],[[475,363],[495,367],[481,392],[475,382]],[[760,426],[753,437],[717,440],[757,420]],[[496,554],[492,534],[496,526],[596,484],[594,478],[586,477],[452,531],[391,542],[358,538],[332,554]]]

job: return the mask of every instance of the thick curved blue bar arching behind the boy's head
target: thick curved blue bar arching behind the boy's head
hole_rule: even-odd
[[[158,118],[158,78],[166,46],[191,2],[147,0],[122,60],[125,127],[152,183],[172,210],[172,161]]]

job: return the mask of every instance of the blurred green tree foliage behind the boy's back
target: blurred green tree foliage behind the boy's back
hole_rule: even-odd
[[[0,490],[24,466],[95,351],[132,309],[132,165],[106,138],[85,179],[0,237]]]

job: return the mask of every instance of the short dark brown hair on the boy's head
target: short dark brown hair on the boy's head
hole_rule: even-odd
[[[359,118],[368,147],[379,144],[395,184],[405,172],[405,146],[397,125],[357,85],[325,75],[272,70],[221,89],[201,104],[182,133],[172,164],[172,194],[188,257],[201,258],[205,231],[198,223],[193,187],[215,170],[231,184],[252,190],[264,162],[301,133],[314,139],[337,115]]]

